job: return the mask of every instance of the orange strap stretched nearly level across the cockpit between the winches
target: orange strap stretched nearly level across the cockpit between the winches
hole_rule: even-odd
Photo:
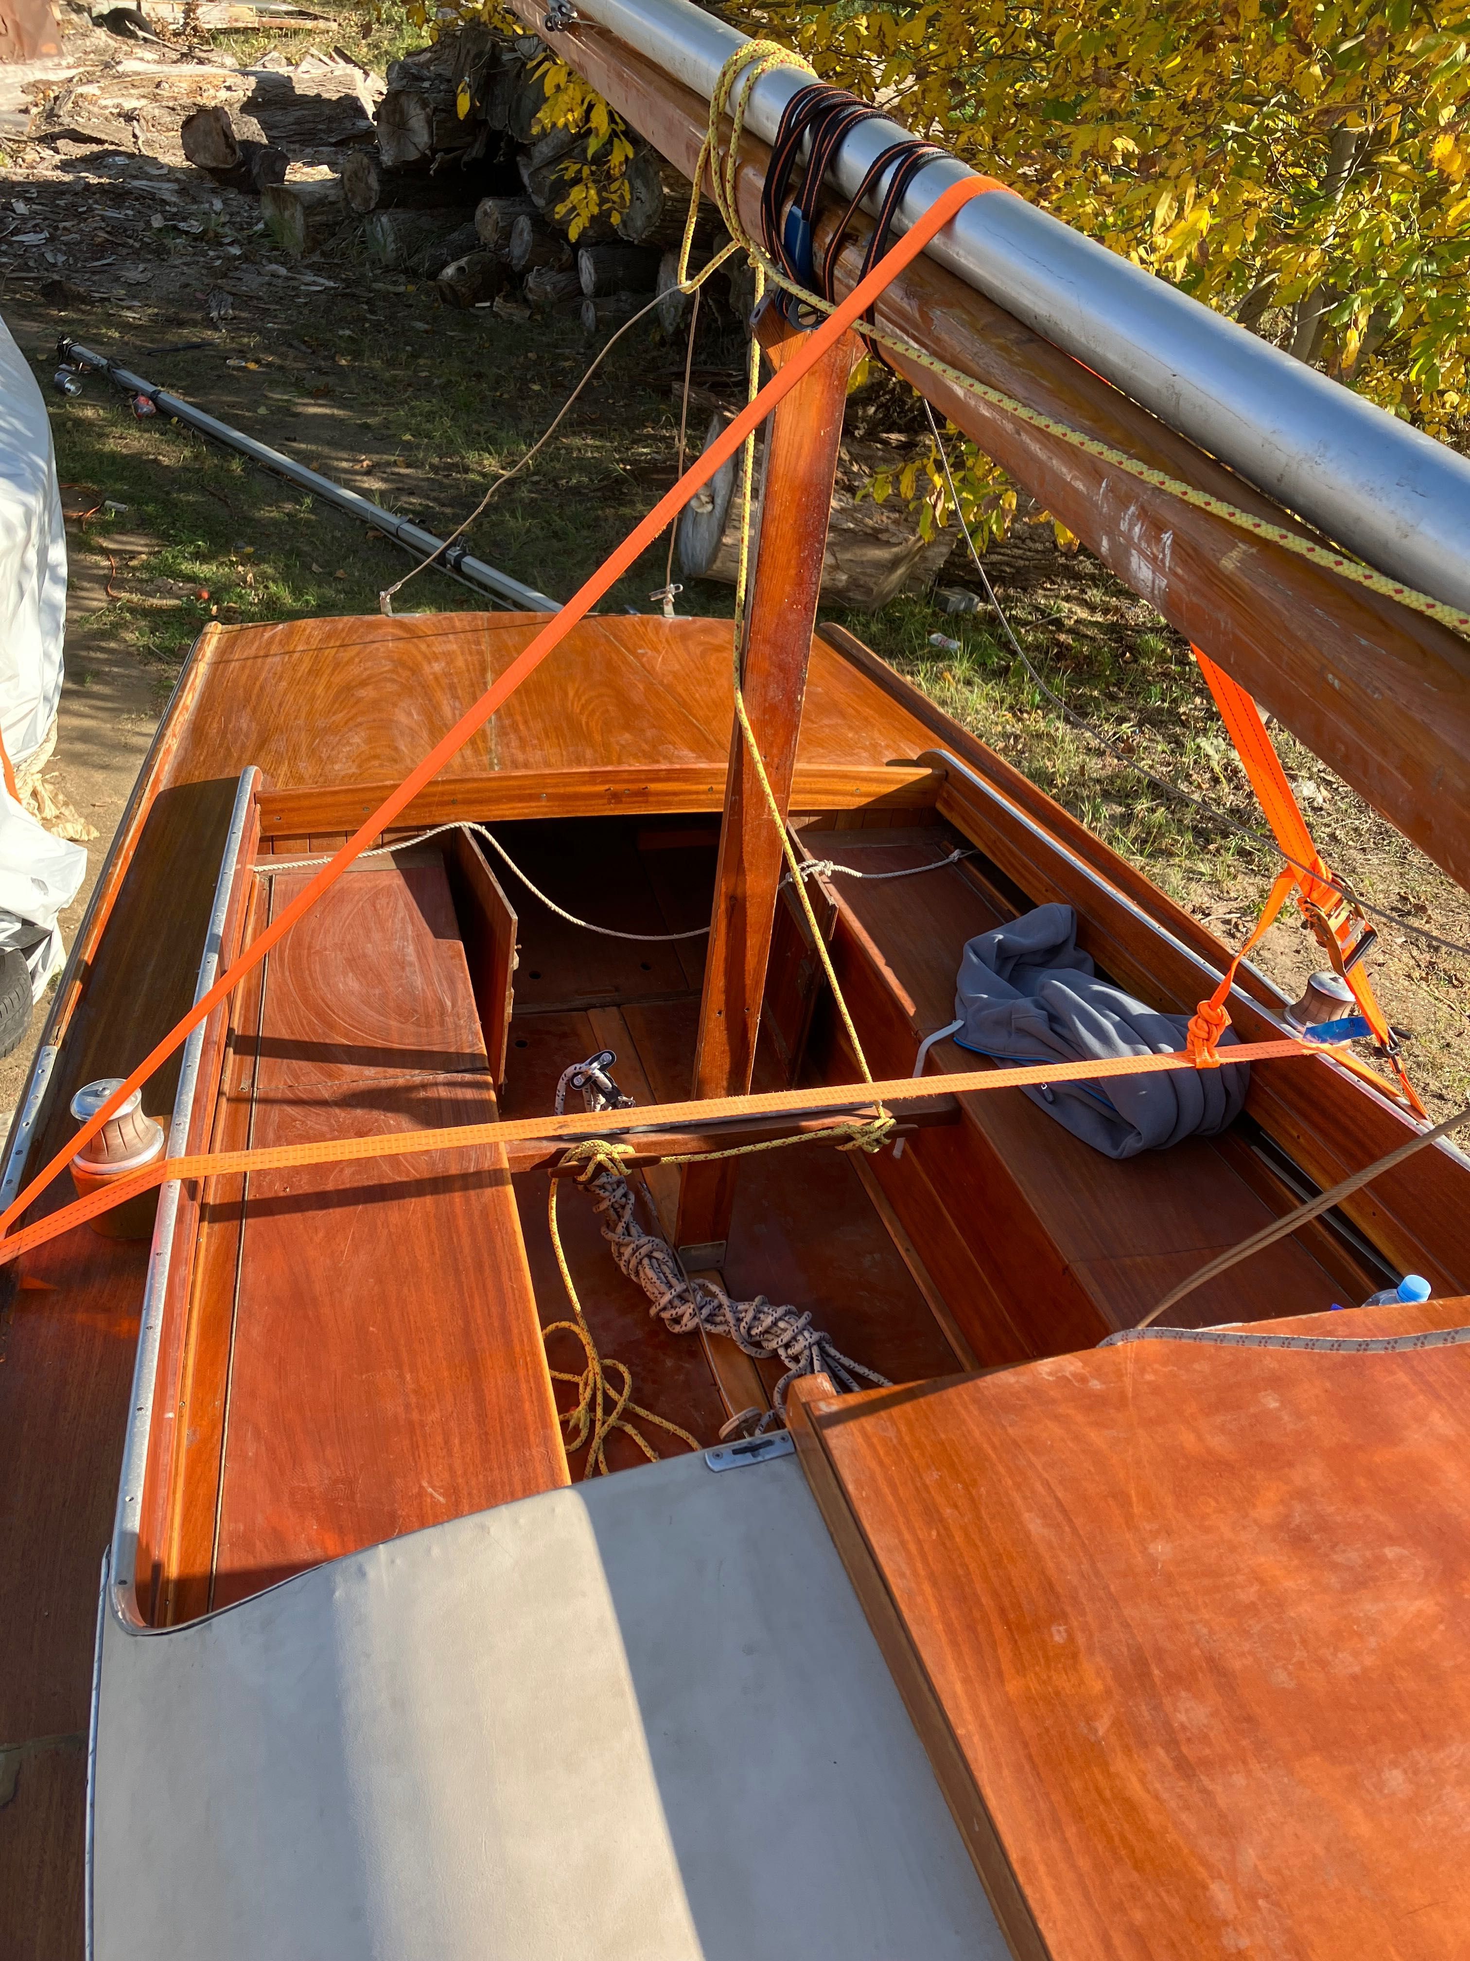
[[[1331,1055],[1323,1043],[1241,1041],[1213,1063],[1270,1063],[1288,1055]],[[306,1165],[349,1165],[374,1157],[421,1157],[429,1151],[470,1151],[496,1143],[529,1139],[563,1141],[568,1147],[588,1137],[637,1143],[639,1131],[666,1131],[676,1124],[723,1124],[743,1116],[806,1116],[851,1108],[855,1116],[874,1114],[884,1102],[923,1102],[929,1096],[968,1096],[972,1090],[1019,1090],[1054,1082],[1098,1082],[1107,1077],[1149,1077],[1168,1069],[1196,1069],[1188,1055],[1117,1055],[1098,1063],[1027,1063],[1019,1069],[970,1069],[960,1075],[896,1077],[892,1082],[849,1082],[837,1088],[774,1090],[768,1096],[713,1096],[706,1102],[645,1104],[633,1110],[600,1110],[590,1116],[525,1116],[504,1124],[459,1124],[451,1130],[406,1130],[376,1137],[329,1137],[323,1143],[284,1143],[261,1151],[204,1151],[198,1157],[167,1157],[112,1188],[90,1192],[35,1226],[0,1239],[0,1267],[31,1247],[45,1245],[84,1226],[112,1206],[151,1192],[169,1179],[220,1179],[257,1171],[300,1171]]]

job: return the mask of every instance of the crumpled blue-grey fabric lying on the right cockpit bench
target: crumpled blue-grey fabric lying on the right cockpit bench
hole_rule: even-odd
[[[1070,906],[1035,912],[972,939],[960,961],[955,1035],[962,1049],[1009,1063],[1082,1063],[1105,1055],[1174,1055],[1188,1014],[1158,1014],[1096,977],[1076,943]],[[1227,1030],[1221,1047],[1235,1041]],[[1056,1082],[1025,1094],[1105,1157],[1162,1151],[1184,1137],[1213,1137],[1239,1116],[1249,1063],[1162,1071],[1103,1082]]]

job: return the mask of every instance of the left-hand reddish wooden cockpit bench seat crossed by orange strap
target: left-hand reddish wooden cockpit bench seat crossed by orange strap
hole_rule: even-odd
[[[257,930],[308,877],[261,880]],[[496,1116],[443,859],[353,869],[241,1002],[220,1141]],[[566,1483],[504,1153],[265,1173],[243,1204],[231,1182],[196,1263],[178,1618]]]

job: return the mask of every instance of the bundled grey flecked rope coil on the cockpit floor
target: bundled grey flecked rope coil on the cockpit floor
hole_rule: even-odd
[[[608,1065],[612,1067],[612,1065]],[[574,1077],[582,1079],[582,1100],[590,1112],[629,1110],[633,1098],[623,1096],[612,1077],[594,1063],[572,1063],[563,1071],[557,1084],[557,1116],[566,1104],[566,1090]],[[833,1386],[843,1392],[862,1388],[888,1388],[888,1377],[874,1369],[864,1369],[860,1361],[843,1355],[833,1345],[831,1335],[811,1326],[809,1312],[788,1306],[772,1306],[764,1294],[755,1300],[731,1300],[723,1286],[713,1281],[692,1281],[678,1263],[678,1255],[666,1239],[645,1232],[637,1222],[633,1192],[627,1179],[612,1171],[592,1169],[578,1182],[592,1192],[592,1206],[602,1216],[602,1237],[612,1247],[613,1261],[649,1296],[649,1312],[655,1314],[670,1333],[690,1335],[704,1328],[711,1335],[727,1335],[745,1355],[760,1361],[774,1355],[786,1365],[786,1375],[776,1383],[772,1408],[755,1424],[755,1432],[770,1430],[786,1418],[786,1390],[798,1375],[829,1375]],[[858,1381],[858,1377],[862,1381]],[[755,1416],[743,1410],[733,1424]],[[725,1432],[733,1428],[727,1424]]]

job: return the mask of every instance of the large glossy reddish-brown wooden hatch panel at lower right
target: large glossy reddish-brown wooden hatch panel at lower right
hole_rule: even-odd
[[[1468,1320],[1431,1300],[1331,1333]],[[1458,1961],[1466,1410],[1470,1345],[1172,1341],[804,1402],[956,1822],[1047,1953]]]

